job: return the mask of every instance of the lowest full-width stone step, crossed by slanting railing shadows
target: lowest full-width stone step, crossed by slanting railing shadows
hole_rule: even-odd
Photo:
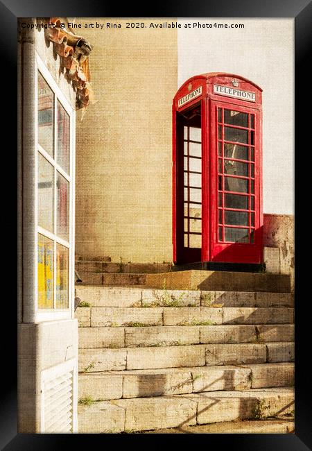
[[[289,387],[210,391],[78,405],[78,432],[118,433],[268,418],[294,410]]]

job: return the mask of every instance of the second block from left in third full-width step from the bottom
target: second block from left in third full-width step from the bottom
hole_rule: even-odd
[[[205,365],[205,346],[128,348],[127,370]]]

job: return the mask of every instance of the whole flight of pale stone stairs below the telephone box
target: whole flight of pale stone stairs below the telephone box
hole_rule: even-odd
[[[287,277],[235,273],[234,285],[233,273],[221,273],[200,289],[213,271],[182,271],[194,272],[206,278],[166,273],[171,289],[157,288],[164,274],[149,274],[156,276],[149,286],[76,285],[82,300],[78,432],[195,432],[211,423],[219,430],[232,425],[232,432],[237,420],[254,420],[254,432],[266,432],[263,421],[270,418],[269,431],[277,417],[283,421],[275,432],[291,432],[293,423],[285,423],[294,411]],[[243,290],[220,291],[222,280]]]

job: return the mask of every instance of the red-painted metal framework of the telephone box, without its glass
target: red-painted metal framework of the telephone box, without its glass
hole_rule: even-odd
[[[255,101],[245,101],[230,96],[214,93],[214,84],[231,87],[239,83],[239,90],[253,92]],[[178,100],[202,87],[202,93],[180,108]],[[173,261],[175,263],[191,262],[181,246],[181,228],[179,224],[179,208],[183,202],[179,177],[177,155],[177,114],[185,112],[201,103],[202,128],[202,262],[263,262],[263,207],[262,207],[262,112],[261,88],[250,80],[234,74],[210,73],[189,78],[173,99]],[[254,114],[254,193],[255,193],[255,233],[254,244],[225,243],[218,241],[218,140],[217,107]],[[249,124],[250,126],[250,124]],[[237,127],[235,127],[237,128]],[[250,148],[250,144],[248,146]],[[249,154],[250,156],[250,154]],[[250,164],[249,167],[250,168]],[[250,169],[248,169],[250,179]],[[224,175],[223,175],[224,177]],[[183,191],[183,190],[182,190]],[[180,206],[179,206],[180,205]],[[224,208],[224,205],[223,205]],[[248,203],[250,210],[250,203]],[[180,216],[181,217],[181,216]],[[249,217],[249,216],[248,216]],[[250,223],[249,223],[250,225]],[[194,254],[195,255],[195,254]],[[198,260],[197,260],[198,261]]]

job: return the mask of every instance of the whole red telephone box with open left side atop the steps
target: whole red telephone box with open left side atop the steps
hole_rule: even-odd
[[[175,264],[263,262],[261,92],[241,76],[209,73],[175,94]]]

